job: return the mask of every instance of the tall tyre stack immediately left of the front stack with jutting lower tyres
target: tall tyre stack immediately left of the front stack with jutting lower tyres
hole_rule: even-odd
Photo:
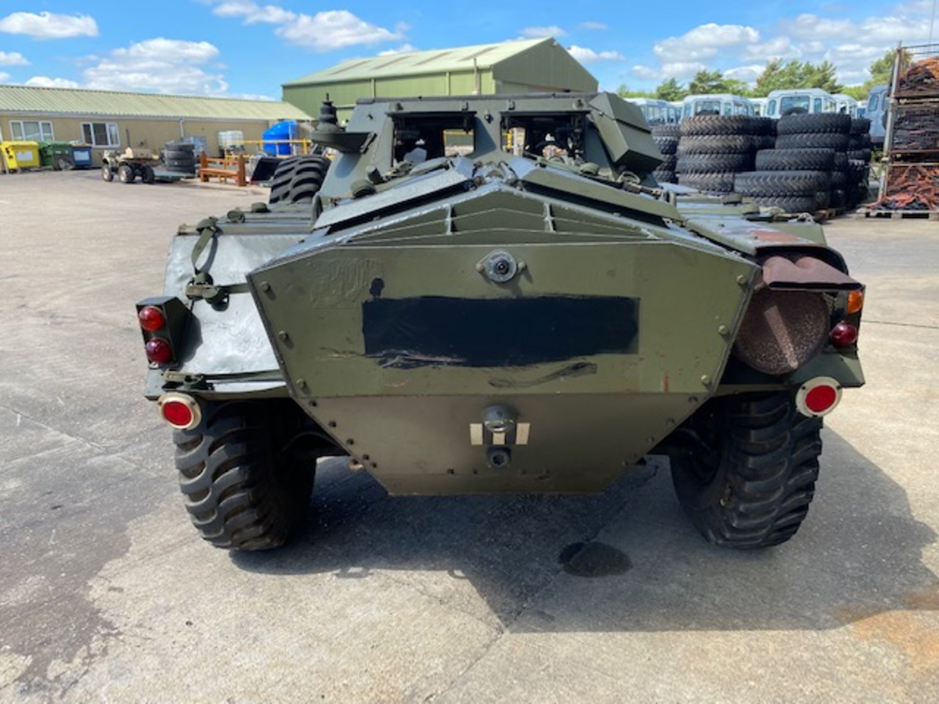
[[[771,119],[747,115],[696,115],[681,124],[676,171],[682,186],[730,193],[737,174],[753,169],[758,148],[772,146]]]

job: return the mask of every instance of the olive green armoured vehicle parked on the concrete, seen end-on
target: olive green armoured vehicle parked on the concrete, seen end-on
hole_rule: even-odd
[[[408,495],[600,492],[663,454],[708,540],[793,536],[863,384],[821,227],[659,189],[608,93],[327,104],[314,139],[138,305],[206,540],[284,543],[329,455]]]

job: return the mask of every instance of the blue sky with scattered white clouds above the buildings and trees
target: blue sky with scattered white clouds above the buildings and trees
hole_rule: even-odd
[[[898,41],[929,38],[933,5],[0,0],[0,83],[278,98],[281,83],[346,58],[554,36],[605,88],[705,68],[753,81],[777,56],[830,59],[859,84]]]

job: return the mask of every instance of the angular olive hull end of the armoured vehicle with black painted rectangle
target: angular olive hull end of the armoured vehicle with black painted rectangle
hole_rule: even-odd
[[[714,392],[758,270],[493,184],[249,282],[292,397],[391,493],[591,492]]]

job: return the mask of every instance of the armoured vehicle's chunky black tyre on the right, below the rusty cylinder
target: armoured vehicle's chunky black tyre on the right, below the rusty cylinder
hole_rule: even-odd
[[[815,494],[821,419],[783,392],[716,399],[691,423],[700,445],[672,454],[671,476],[701,535],[735,548],[792,538]]]

